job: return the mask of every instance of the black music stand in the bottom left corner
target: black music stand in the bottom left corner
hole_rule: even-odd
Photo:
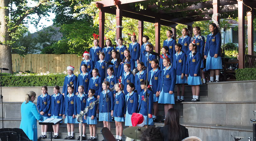
[[[20,128],[2,128],[0,138],[2,141],[32,141]]]

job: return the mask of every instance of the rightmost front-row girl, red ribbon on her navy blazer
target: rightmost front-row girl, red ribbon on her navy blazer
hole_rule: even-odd
[[[140,92],[139,96],[139,106],[138,106],[138,113],[142,114],[145,119],[145,125],[147,127],[147,118],[148,118],[148,125],[154,125],[153,119],[152,119],[152,108],[153,108],[153,93],[150,85],[147,80],[141,81],[141,89],[143,91]],[[149,94],[149,97],[147,99],[146,92]],[[148,107],[147,107],[147,100],[148,101]],[[148,111],[148,114],[147,114]]]

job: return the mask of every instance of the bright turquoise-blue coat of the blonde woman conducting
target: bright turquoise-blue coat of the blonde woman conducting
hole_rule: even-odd
[[[37,141],[37,120],[43,120],[39,114],[35,103],[23,102],[20,107],[21,122],[19,128],[22,129],[30,140]]]

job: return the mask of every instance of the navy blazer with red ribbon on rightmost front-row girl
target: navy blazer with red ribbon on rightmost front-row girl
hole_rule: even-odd
[[[153,108],[153,93],[150,90],[147,90],[147,92],[149,93],[148,114],[151,114],[152,108]],[[142,115],[147,115],[147,97],[146,97],[146,92],[144,93],[144,90],[140,93],[140,96],[139,96],[138,113],[141,113]]]

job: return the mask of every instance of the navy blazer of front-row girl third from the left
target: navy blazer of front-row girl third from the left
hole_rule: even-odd
[[[76,95],[73,94],[73,96],[71,96],[70,99],[68,99],[67,95],[65,96],[63,107],[63,114],[65,114],[65,116],[72,116],[73,114],[75,114],[75,96]]]

